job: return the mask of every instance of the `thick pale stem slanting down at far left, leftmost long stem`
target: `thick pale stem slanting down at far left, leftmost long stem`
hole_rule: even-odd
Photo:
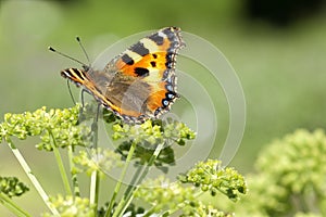
[[[8,145],[11,149],[12,153],[17,158],[17,161],[21,164],[23,170],[25,171],[25,174],[29,178],[30,182],[33,183],[33,186],[35,187],[35,189],[37,190],[37,192],[39,193],[39,195],[41,196],[41,199],[43,200],[45,204],[48,206],[48,208],[52,212],[53,215],[59,216],[59,212],[49,202],[48,194],[45,192],[45,190],[42,189],[41,184],[38,182],[38,180],[34,176],[30,167],[26,163],[26,161],[23,157],[23,155],[21,154],[21,152],[13,145],[13,143],[12,143],[11,140],[7,140],[7,141],[8,141]]]

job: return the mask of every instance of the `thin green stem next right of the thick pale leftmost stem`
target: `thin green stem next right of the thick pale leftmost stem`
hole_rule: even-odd
[[[57,164],[58,164],[58,167],[59,167],[59,171],[60,171],[60,175],[61,175],[61,179],[63,181],[65,192],[66,192],[67,195],[73,195],[73,192],[72,192],[72,189],[71,189],[71,186],[70,186],[70,181],[68,181],[68,178],[67,178],[67,175],[66,175],[63,162],[62,162],[62,157],[61,157],[61,154],[58,150],[55,138],[54,138],[51,129],[48,129],[48,132],[50,133],[50,137],[52,138],[51,145],[52,145],[52,149],[53,149],[53,154],[54,154],[54,157],[57,159]]]

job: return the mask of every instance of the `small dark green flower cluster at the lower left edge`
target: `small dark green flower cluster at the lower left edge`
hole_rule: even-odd
[[[29,191],[16,177],[0,177],[0,192],[9,197],[20,196]],[[1,201],[1,200],[0,200]]]

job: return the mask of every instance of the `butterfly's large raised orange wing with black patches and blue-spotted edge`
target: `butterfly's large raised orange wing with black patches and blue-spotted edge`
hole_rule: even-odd
[[[125,120],[142,122],[168,111],[178,97],[175,63],[184,46],[179,28],[163,28],[106,65],[104,72],[114,76],[105,95]]]

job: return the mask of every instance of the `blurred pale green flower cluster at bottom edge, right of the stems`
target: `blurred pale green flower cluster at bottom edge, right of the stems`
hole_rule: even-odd
[[[152,188],[149,188],[152,187]],[[146,215],[161,214],[161,216],[171,216],[178,213],[179,216],[212,216],[212,217],[230,217],[216,209],[211,204],[203,203],[197,196],[197,189],[193,187],[184,187],[179,181],[170,182],[164,177],[155,180],[147,180],[135,192],[135,197],[150,204],[151,208]]]

